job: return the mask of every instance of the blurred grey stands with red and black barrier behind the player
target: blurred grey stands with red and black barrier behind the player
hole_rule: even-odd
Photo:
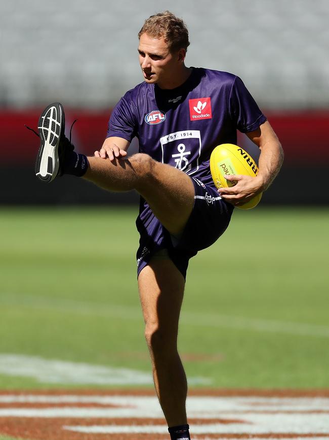
[[[165,9],[188,25],[187,65],[240,76],[278,134],[285,163],[263,203],[328,202],[327,0],[13,0],[0,2],[1,204],[137,200],[70,177],[40,185],[33,173],[38,140],[24,124],[36,129],[40,111],[59,100],[67,130],[78,118],[76,149],[93,154],[112,107],[142,81],[137,33]],[[239,144],[248,148],[244,136]]]

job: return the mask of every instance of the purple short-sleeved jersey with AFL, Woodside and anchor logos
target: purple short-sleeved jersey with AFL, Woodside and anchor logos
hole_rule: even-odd
[[[136,136],[141,153],[213,184],[209,166],[213,149],[236,144],[236,129],[253,131],[265,121],[240,78],[193,68],[176,89],[143,82],[129,90],[113,109],[107,137],[132,141]]]

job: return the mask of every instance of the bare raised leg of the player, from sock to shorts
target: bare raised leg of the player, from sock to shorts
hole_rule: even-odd
[[[87,180],[109,191],[137,190],[163,226],[174,235],[182,231],[194,204],[194,186],[185,173],[141,153],[114,161],[88,160]]]

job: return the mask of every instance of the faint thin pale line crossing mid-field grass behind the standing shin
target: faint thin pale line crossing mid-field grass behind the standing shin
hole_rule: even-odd
[[[142,320],[139,307],[118,306],[92,301],[79,301],[65,298],[45,298],[34,295],[1,294],[0,303],[15,305],[20,308],[50,310],[77,315],[111,317],[126,320]],[[299,336],[329,337],[329,326],[304,324],[216,313],[194,313],[182,311],[181,322],[184,325],[201,327],[226,327],[239,330],[284,333]]]

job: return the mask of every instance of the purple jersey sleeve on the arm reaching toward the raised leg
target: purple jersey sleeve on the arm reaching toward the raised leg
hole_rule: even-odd
[[[134,104],[129,102],[126,95],[114,107],[108,121],[106,138],[112,136],[126,139],[131,142],[137,134]]]

